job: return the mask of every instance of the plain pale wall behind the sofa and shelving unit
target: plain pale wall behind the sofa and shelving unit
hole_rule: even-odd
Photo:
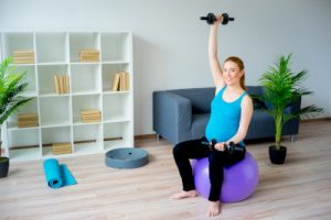
[[[280,54],[293,53],[293,70],[331,116],[330,0],[0,0],[0,31],[131,30],[135,61],[135,133],[152,133],[152,91],[212,86],[207,66],[207,12],[228,12],[220,30],[220,59],[242,57],[247,85],[257,85]]]

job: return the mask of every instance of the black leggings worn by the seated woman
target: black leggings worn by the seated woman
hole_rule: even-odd
[[[210,201],[220,200],[221,188],[223,183],[223,167],[233,165],[245,157],[245,152],[235,152],[229,154],[224,151],[211,151],[209,146],[203,145],[203,139],[184,141],[173,147],[173,157],[182,178],[183,190],[189,191],[195,189],[194,177],[190,158],[209,157],[210,161]]]

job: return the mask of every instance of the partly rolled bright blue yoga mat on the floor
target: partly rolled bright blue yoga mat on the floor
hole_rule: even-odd
[[[54,189],[77,183],[67,166],[60,165],[55,158],[44,161],[44,173],[49,187]]]

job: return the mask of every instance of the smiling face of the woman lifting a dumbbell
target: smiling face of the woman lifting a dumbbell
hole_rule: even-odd
[[[226,85],[239,85],[244,70],[241,70],[238,65],[234,62],[227,61],[223,66],[223,79]]]

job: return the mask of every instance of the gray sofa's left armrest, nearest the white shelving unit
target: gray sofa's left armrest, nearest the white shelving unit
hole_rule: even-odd
[[[191,101],[168,91],[154,91],[152,98],[153,130],[172,144],[191,139]]]

